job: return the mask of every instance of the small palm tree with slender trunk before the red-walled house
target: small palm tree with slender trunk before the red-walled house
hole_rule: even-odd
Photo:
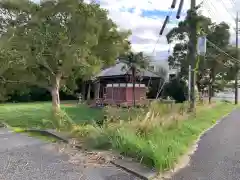
[[[125,63],[126,66],[124,67],[127,72],[130,72],[132,76],[132,91],[133,91],[133,106],[136,106],[136,95],[135,95],[135,84],[136,84],[136,77],[140,76],[140,72],[144,69],[147,69],[150,61],[149,56],[145,56],[142,52],[133,53],[129,52],[126,55],[120,57],[120,61]]]

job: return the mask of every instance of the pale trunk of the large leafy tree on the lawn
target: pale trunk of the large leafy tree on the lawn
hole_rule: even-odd
[[[52,108],[54,115],[56,115],[60,111],[60,97],[59,97],[60,79],[61,76],[57,75],[51,88]]]

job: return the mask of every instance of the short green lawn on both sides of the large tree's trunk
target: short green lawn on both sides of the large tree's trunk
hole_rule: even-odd
[[[94,121],[104,116],[101,109],[93,109],[85,105],[63,103],[61,107],[76,123]],[[45,127],[43,120],[50,118],[51,103],[48,102],[0,105],[0,121],[8,123],[10,126]]]

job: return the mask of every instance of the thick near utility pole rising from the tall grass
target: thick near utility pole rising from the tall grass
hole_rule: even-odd
[[[195,111],[195,67],[196,67],[196,45],[197,45],[197,23],[192,19],[196,16],[196,0],[191,0],[191,27],[190,27],[190,47],[189,60],[191,65],[191,93],[190,93],[190,112]]]

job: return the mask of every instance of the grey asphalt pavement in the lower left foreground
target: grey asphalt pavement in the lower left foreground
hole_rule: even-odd
[[[113,166],[84,167],[52,144],[0,129],[0,180],[137,180]]]

